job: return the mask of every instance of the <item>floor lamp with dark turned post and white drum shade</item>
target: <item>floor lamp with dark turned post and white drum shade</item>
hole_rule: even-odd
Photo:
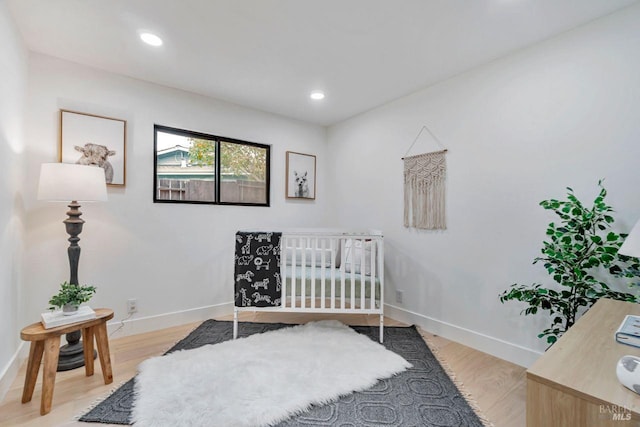
[[[78,262],[80,246],[78,235],[82,232],[84,220],[80,218],[78,202],[106,201],[107,184],[104,170],[96,166],[70,163],[43,163],[40,167],[38,200],[66,202],[69,206],[68,218],[63,222],[69,234],[69,283],[79,285]],[[58,371],[75,369],[84,365],[80,330],[67,334],[68,344],[60,349]]]

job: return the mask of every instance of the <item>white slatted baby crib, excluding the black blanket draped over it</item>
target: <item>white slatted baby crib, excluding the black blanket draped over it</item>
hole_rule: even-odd
[[[233,337],[241,311],[377,314],[384,339],[384,241],[379,231],[283,231],[281,299],[277,307],[234,307]]]

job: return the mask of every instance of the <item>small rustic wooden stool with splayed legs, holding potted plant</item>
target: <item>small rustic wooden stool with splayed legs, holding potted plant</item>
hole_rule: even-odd
[[[20,331],[20,338],[31,341],[29,348],[29,361],[27,373],[22,390],[22,403],[31,401],[33,389],[40,370],[40,361],[44,354],[44,368],[42,370],[42,399],[40,401],[40,415],[51,411],[53,400],[53,387],[56,381],[58,356],[60,353],[60,336],[69,332],[82,330],[84,342],[85,373],[89,377],[93,375],[93,340],[95,337],[100,356],[100,367],[105,384],[113,382],[111,371],[111,357],[109,356],[109,336],[107,334],[107,321],[113,318],[113,310],[98,308],[95,310],[96,318],[45,329],[42,323],[34,323]]]

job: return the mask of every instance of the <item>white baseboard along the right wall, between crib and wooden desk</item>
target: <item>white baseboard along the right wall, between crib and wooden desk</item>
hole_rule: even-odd
[[[385,304],[384,314],[404,323],[420,326],[427,332],[447,338],[468,347],[488,353],[492,356],[507,360],[528,368],[542,353],[522,347],[498,338],[490,337],[470,329],[462,328],[451,323],[433,319],[423,314],[414,313],[390,304]]]

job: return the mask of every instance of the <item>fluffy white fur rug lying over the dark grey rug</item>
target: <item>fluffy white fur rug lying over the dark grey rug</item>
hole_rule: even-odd
[[[138,367],[139,426],[267,426],[411,367],[335,320],[154,357]]]

